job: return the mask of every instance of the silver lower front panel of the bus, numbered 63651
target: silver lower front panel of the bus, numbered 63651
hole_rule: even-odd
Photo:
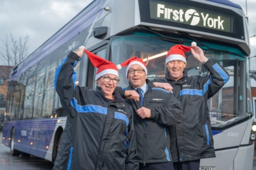
[[[228,128],[214,135],[216,157],[201,159],[200,169],[239,170],[248,167],[248,165],[253,165],[254,151],[252,150],[254,150],[254,142],[250,145],[248,144],[250,130],[247,129],[251,128],[252,121],[253,119],[244,121],[242,124]]]

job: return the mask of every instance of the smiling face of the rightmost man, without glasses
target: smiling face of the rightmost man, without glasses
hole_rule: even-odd
[[[184,68],[186,67],[185,62],[181,60],[172,60],[166,64],[171,79],[177,81],[183,76]]]

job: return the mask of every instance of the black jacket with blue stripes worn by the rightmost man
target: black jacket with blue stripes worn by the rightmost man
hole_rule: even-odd
[[[189,76],[186,71],[180,80],[172,80],[169,72],[162,82],[173,86],[173,94],[182,104],[182,123],[170,128],[171,156],[174,162],[200,160],[215,157],[213,134],[207,99],[213,97],[229,80],[228,72],[210,59],[204,64],[210,72],[207,76]],[[157,82],[159,80],[156,80]]]

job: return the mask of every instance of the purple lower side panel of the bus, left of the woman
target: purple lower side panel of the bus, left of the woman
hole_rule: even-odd
[[[52,161],[52,149],[54,141],[54,132],[57,128],[65,128],[67,117],[54,119],[37,119],[13,121],[9,123],[6,130],[11,134],[14,129],[14,148],[16,150],[28,153],[45,160]],[[9,138],[3,140],[5,146],[10,146]]]

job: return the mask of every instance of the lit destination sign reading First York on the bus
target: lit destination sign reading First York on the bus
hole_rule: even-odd
[[[151,19],[232,33],[232,16],[163,1],[150,1]]]

